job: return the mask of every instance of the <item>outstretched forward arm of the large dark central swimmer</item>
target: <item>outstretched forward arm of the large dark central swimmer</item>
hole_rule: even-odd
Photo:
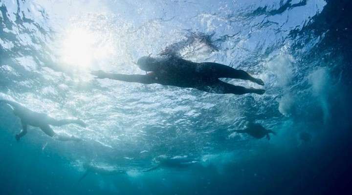
[[[143,84],[152,84],[155,83],[155,79],[152,74],[147,75],[124,75],[124,74],[112,74],[106,73],[104,71],[92,71],[92,75],[96,76],[96,78],[110,78],[114,80],[121,80],[126,82],[139,82]]]

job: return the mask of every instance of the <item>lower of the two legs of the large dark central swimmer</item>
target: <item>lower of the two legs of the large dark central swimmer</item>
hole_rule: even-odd
[[[262,95],[265,92],[264,89],[245,88],[242,86],[232,85],[232,84],[223,82],[221,80],[218,80],[216,83],[209,86],[197,87],[197,89],[205,92],[216,93],[216,94],[236,94],[236,95],[249,94],[249,93]]]

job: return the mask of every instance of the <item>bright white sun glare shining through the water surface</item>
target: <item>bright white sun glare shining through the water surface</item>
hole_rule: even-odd
[[[84,29],[68,31],[62,49],[65,63],[79,67],[89,67],[94,60],[106,59],[112,53],[111,45]]]

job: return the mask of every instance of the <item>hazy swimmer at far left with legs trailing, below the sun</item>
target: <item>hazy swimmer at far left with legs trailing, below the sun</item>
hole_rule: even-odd
[[[46,135],[53,137],[57,140],[60,141],[80,141],[81,139],[78,137],[68,137],[68,136],[63,136],[63,135],[58,135],[56,134],[50,127],[50,125],[53,126],[62,126],[66,124],[78,124],[82,127],[86,127],[86,123],[83,122],[81,119],[62,119],[62,120],[56,120],[52,117],[49,117],[48,115],[44,113],[37,113],[32,110],[29,110],[28,108],[22,106],[21,104],[14,102],[14,101],[9,101],[9,100],[3,100],[0,99],[0,103],[6,103],[10,105],[13,108],[13,113],[17,116],[20,117],[21,123],[22,123],[22,131],[20,134],[16,135],[16,139],[20,140],[21,137],[26,135],[27,133],[27,126],[33,126],[33,127],[39,127]]]

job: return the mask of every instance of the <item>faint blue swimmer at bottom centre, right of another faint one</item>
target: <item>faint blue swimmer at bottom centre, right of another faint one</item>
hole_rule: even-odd
[[[155,169],[158,169],[160,167],[171,167],[171,168],[185,168],[193,165],[194,163],[200,161],[198,159],[193,159],[193,158],[186,158],[183,156],[175,156],[175,157],[167,157],[167,156],[158,156],[155,158],[155,161],[158,162],[158,164],[155,167],[152,167],[148,170],[145,170],[143,172],[149,172],[153,171]]]

